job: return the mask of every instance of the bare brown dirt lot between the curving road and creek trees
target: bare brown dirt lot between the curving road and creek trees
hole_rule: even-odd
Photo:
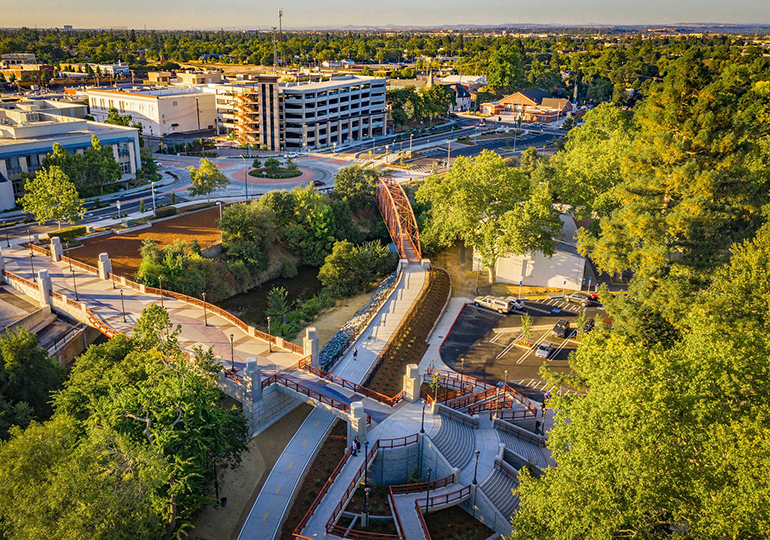
[[[132,278],[142,262],[139,250],[145,238],[152,238],[166,246],[174,240],[197,239],[202,249],[219,241],[217,207],[199,212],[181,214],[174,219],[153,223],[148,229],[125,234],[108,234],[83,242],[83,247],[72,250],[72,257],[96,266],[100,253],[109,253],[115,274]]]

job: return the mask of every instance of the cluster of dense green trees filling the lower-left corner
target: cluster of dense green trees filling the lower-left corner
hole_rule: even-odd
[[[215,503],[213,465],[239,463],[246,419],[225,406],[211,352],[185,356],[178,332],[146,308],[133,337],[78,358],[50,420],[11,430],[3,538],[171,538]]]

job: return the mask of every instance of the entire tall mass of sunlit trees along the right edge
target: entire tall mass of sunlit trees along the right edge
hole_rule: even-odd
[[[764,538],[770,432],[770,61],[691,47],[532,168],[593,220],[629,294],[559,377],[556,467],[520,477],[513,538]]]

